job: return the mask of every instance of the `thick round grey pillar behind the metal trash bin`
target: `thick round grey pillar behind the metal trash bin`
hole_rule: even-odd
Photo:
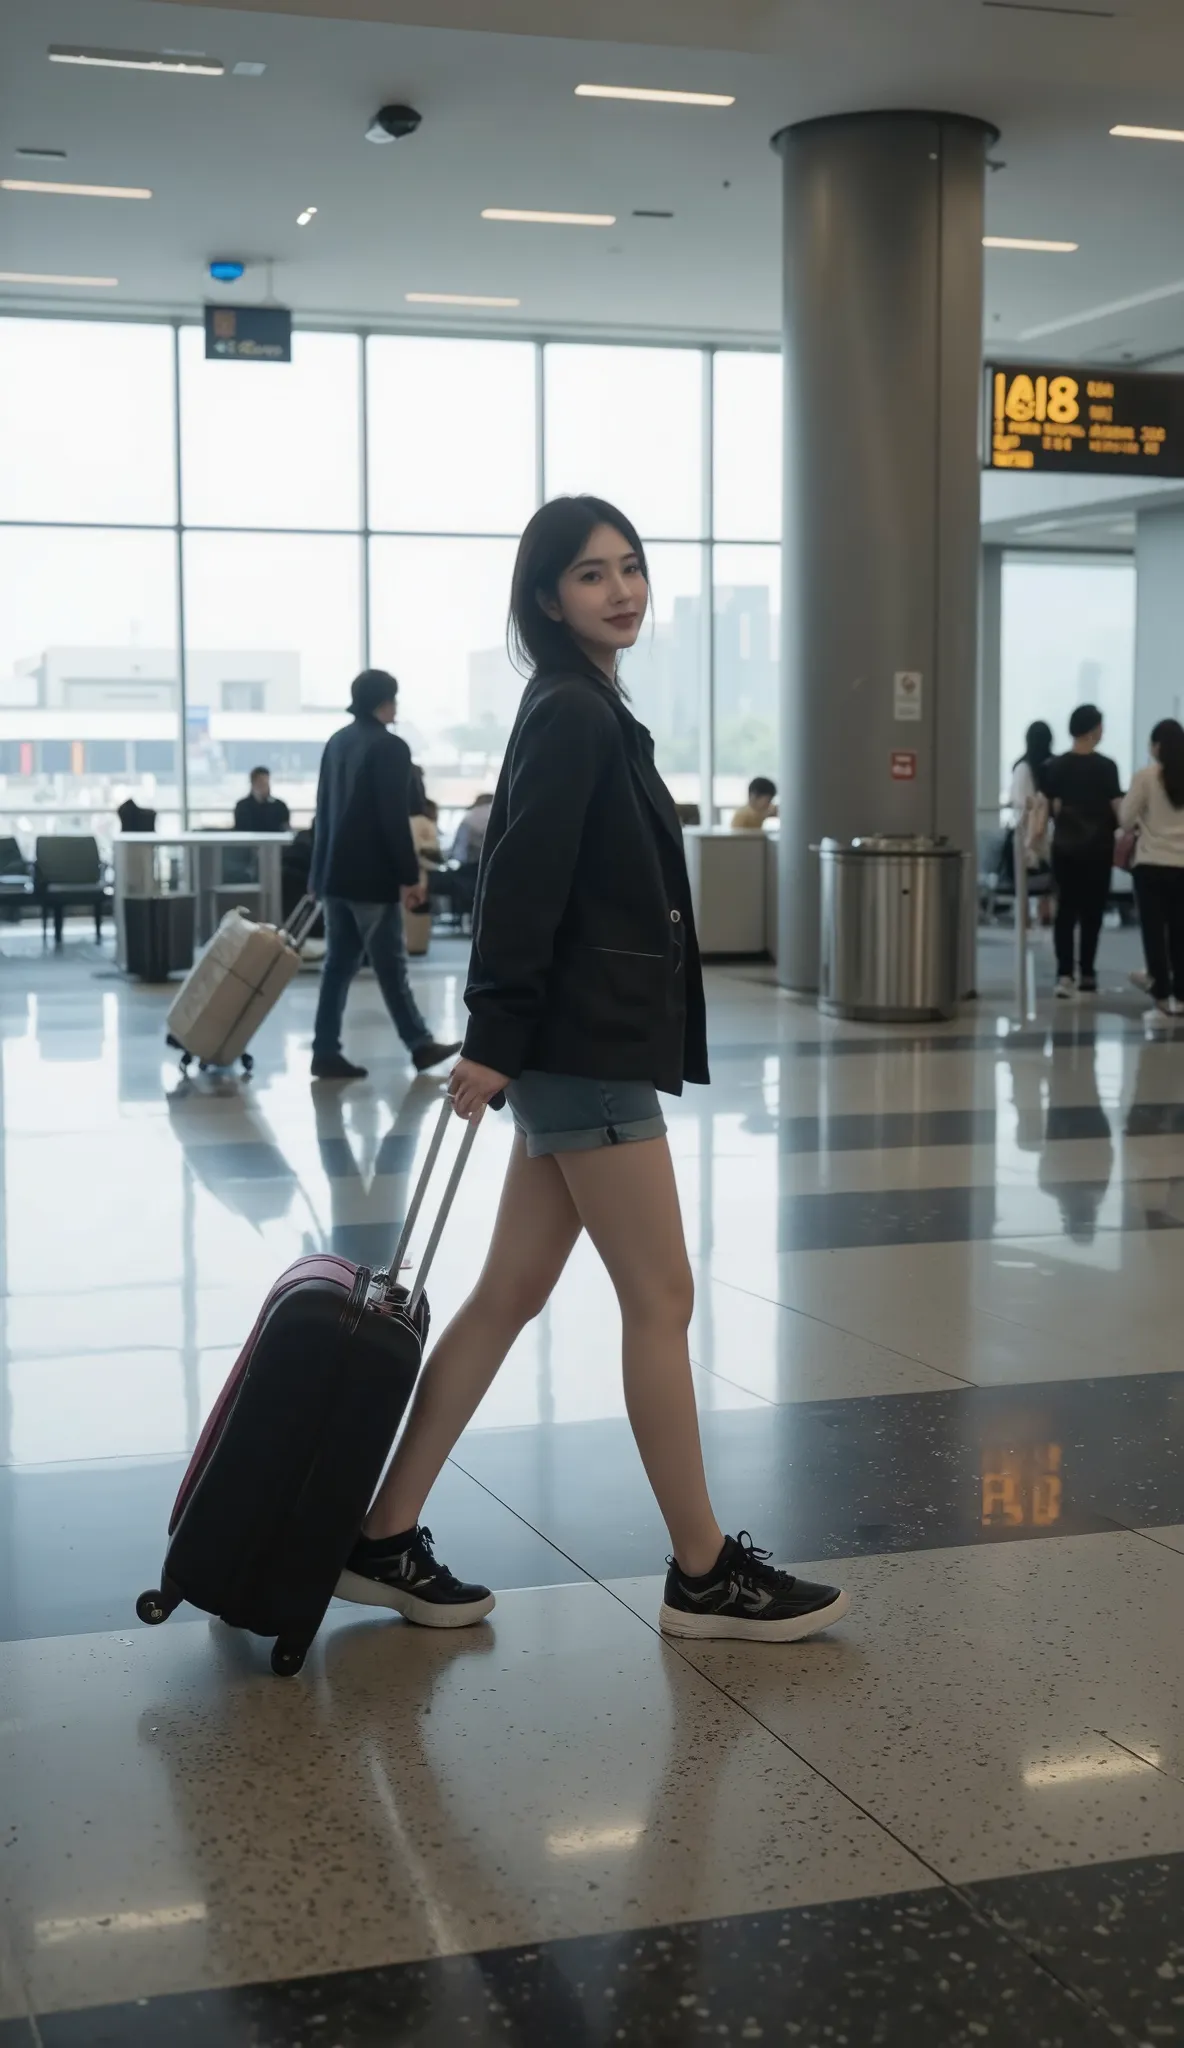
[[[805,121],[785,166],[780,938],[823,834],[975,846],[983,121]],[[920,676],[920,688],[914,678]],[[920,717],[918,717],[920,707]],[[969,862],[973,901],[973,858]]]

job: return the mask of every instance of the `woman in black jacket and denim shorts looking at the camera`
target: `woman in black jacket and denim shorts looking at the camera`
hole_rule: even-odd
[[[670,1530],[662,1628],[793,1642],[846,1614],[830,1585],[725,1536],[686,1350],[690,1264],[658,1090],[707,1081],[682,831],[617,664],[649,602],[645,553],[600,498],[557,498],[518,549],[510,645],[531,680],[485,831],[451,1079],[463,1118],[506,1096],[514,1149],[485,1266],[420,1382],[338,1591],[430,1626],[481,1620],[420,1528],[428,1491],[580,1231],[623,1317],[625,1407]]]

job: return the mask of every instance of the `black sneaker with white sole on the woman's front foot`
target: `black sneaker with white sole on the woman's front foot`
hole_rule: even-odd
[[[688,1579],[670,1561],[658,1626],[668,1636],[739,1636],[746,1642],[801,1642],[842,1622],[850,1599],[838,1585],[811,1585],[774,1571],[748,1530],[725,1536],[713,1569]]]

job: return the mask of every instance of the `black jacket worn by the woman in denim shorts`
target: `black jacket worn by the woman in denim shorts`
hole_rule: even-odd
[[[627,705],[584,676],[522,696],[485,829],[465,1057],[707,1081],[703,969],[682,827]]]

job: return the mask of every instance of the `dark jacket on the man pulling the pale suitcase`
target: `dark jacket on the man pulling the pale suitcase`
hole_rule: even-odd
[[[322,756],[313,895],[397,903],[420,879],[408,793],[412,754],[369,713],[334,733]]]

